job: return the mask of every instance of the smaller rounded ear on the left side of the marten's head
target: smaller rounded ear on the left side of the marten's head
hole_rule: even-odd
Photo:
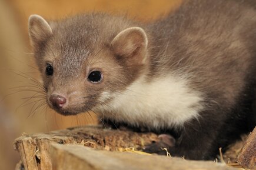
[[[31,44],[35,46],[51,36],[52,29],[42,16],[30,15],[28,18],[28,34]]]

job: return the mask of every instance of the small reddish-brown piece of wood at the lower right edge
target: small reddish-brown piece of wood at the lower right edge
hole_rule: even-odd
[[[238,155],[238,163],[243,168],[256,169],[256,127],[248,136],[245,145]]]

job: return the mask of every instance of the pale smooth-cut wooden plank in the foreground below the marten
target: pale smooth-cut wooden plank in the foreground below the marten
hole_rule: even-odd
[[[217,164],[212,161],[186,161],[182,158],[159,155],[148,156],[124,152],[95,151],[79,145],[52,144],[51,158],[53,170],[236,170],[225,164]]]

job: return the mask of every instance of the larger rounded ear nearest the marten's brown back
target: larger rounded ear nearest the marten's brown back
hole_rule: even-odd
[[[139,27],[131,27],[121,31],[111,43],[115,55],[137,64],[143,64],[146,58],[148,38]]]

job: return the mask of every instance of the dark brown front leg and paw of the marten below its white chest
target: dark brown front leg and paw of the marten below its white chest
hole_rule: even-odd
[[[144,151],[164,155],[166,151],[161,148],[167,148],[171,156],[185,156],[185,159],[214,159],[218,151],[216,138],[222,123],[216,121],[217,119],[212,120],[203,117],[193,119],[184,124],[177,139],[167,134],[159,135],[159,141],[146,146]]]

